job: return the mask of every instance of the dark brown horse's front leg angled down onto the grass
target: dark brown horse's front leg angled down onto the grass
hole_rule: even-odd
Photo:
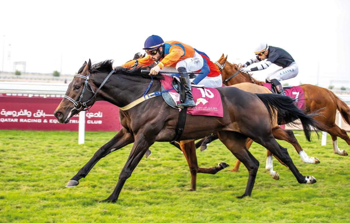
[[[147,131],[144,131],[147,132]],[[148,131],[152,132],[152,131]],[[132,172],[134,171],[135,167],[139,164],[140,160],[142,159],[142,156],[145,155],[148,148],[154,143],[154,140],[150,140],[151,137],[145,136],[143,133],[138,133],[135,136],[135,142],[134,145],[130,151],[130,155],[121,170],[121,173],[119,174],[119,179],[117,182],[116,188],[114,188],[113,193],[105,200],[99,201],[99,202],[116,202],[118,200],[119,194],[121,189],[124,186],[125,181],[131,176]],[[148,140],[146,140],[148,139]]]

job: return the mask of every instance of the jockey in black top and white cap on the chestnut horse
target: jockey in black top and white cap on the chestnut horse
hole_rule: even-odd
[[[241,68],[240,71],[247,72],[263,70],[268,68],[269,65],[273,63],[282,67],[281,69],[269,74],[266,78],[266,82],[271,83],[275,87],[277,93],[286,95],[280,81],[293,78],[299,73],[299,67],[295,63],[293,57],[290,56],[286,50],[278,47],[267,46],[266,43],[260,43],[260,45],[255,49],[254,53],[256,57],[253,57],[243,64],[243,68]],[[266,58],[267,60],[265,62],[261,62],[259,65],[257,65],[257,67],[251,69],[247,68],[247,66],[263,61]]]

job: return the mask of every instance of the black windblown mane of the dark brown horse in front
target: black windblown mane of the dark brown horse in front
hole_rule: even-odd
[[[105,60],[99,63],[95,63],[91,66],[91,69],[89,70],[90,73],[109,73],[113,70],[113,60]],[[84,66],[83,66],[84,67]],[[113,74],[124,74],[124,75],[129,75],[129,76],[139,76],[143,78],[148,78],[151,79],[151,75],[148,75],[148,73],[141,73],[141,70],[149,69],[148,67],[142,67],[142,66],[137,66],[134,69],[128,69],[125,67],[116,67],[116,71]],[[82,68],[80,68],[82,69]],[[80,71],[79,69],[79,71]],[[84,69],[84,68],[83,68]],[[164,77],[161,74],[157,75],[152,75],[153,79],[161,79],[163,80]]]

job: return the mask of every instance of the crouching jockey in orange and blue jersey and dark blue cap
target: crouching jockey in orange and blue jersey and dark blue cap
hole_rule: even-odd
[[[139,65],[148,66],[153,62],[158,63],[151,69],[150,75],[156,75],[160,70],[186,73],[200,70],[203,67],[202,56],[193,47],[179,41],[164,42],[160,36],[152,35],[145,41],[145,48],[143,49],[147,56],[138,60]],[[122,67],[131,67],[134,64],[135,61],[133,60],[123,64]],[[184,85],[186,100],[178,105],[183,107],[195,106],[189,75],[181,74],[180,79]]]

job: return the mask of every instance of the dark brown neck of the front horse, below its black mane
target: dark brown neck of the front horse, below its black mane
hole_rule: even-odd
[[[91,79],[96,86],[102,84],[107,74],[96,73]],[[118,107],[124,107],[136,99],[143,96],[144,91],[151,83],[151,79],[138,76],[114,74],[103,85],[103,88],[98,92],[97,100],[105,100]],[[160,82],[154,80],[148,93],[152,93],[160,89]]]

